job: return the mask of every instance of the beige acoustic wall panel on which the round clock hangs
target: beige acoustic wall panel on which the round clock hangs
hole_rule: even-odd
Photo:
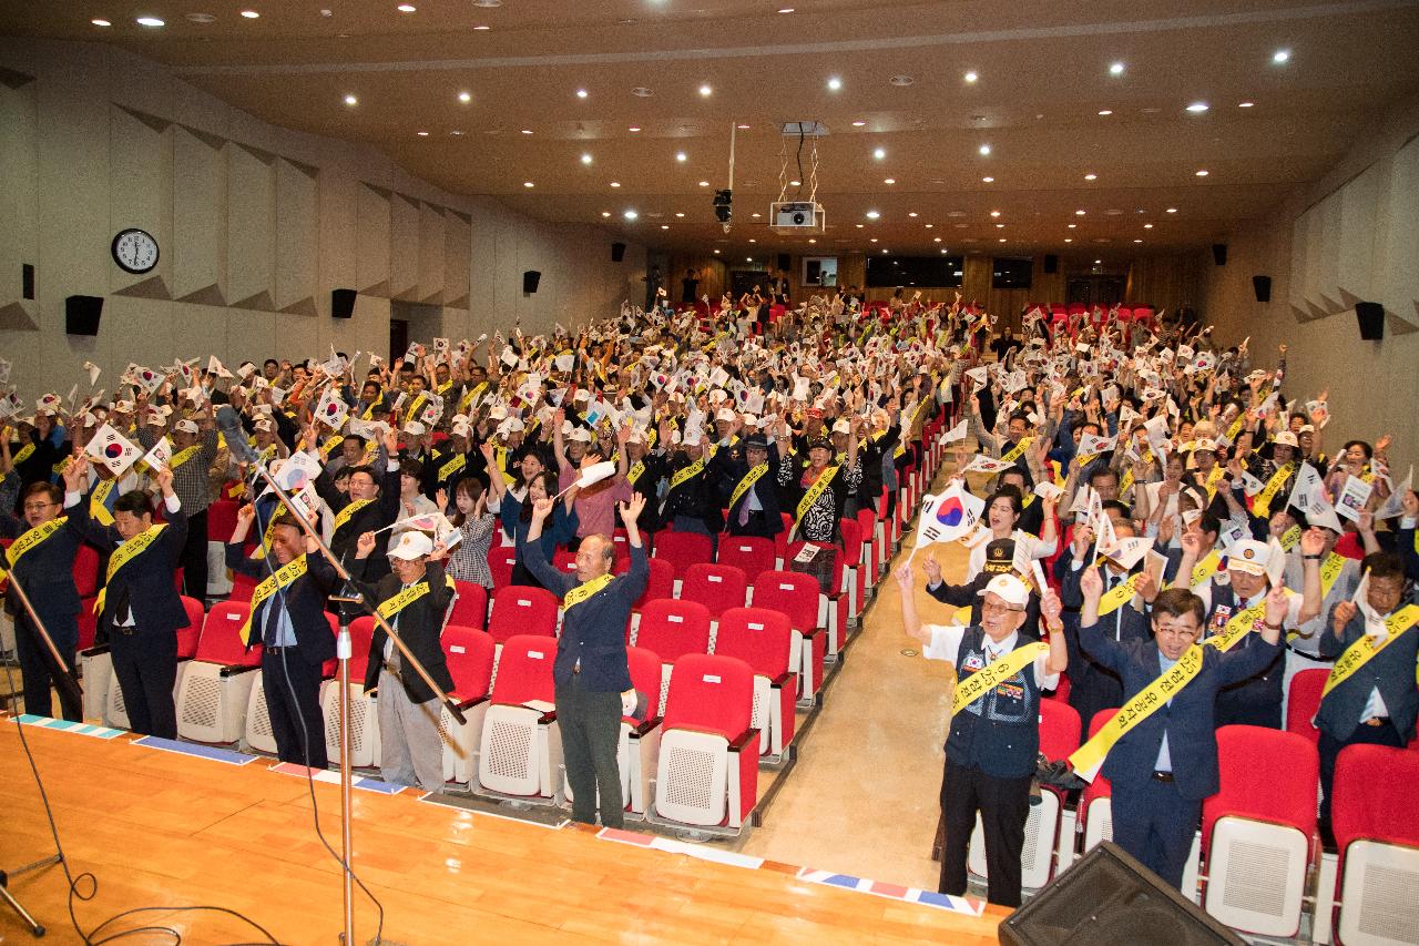
[[[114,233],[146,230],[158,240],[158,266],[143,274],[109,263],[109,291],[172,298],[173,125],[122,105],[109,107],[109,222]]]

